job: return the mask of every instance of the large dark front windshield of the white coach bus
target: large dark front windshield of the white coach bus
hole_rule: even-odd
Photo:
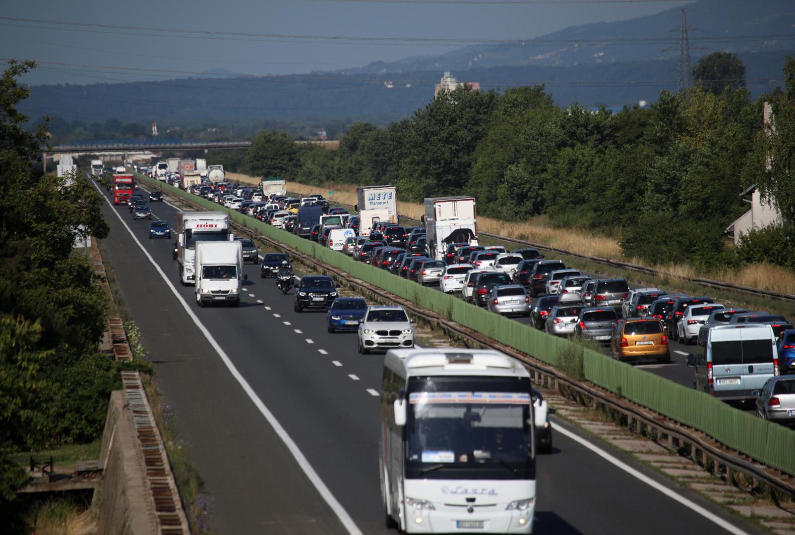
[[[530,399],[526,392],[413,392],[406,477],[531,479]]]

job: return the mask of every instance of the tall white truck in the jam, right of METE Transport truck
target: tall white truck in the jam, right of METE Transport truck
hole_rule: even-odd
[[[444,251],[449,244],[478,244],[474,197],[426,198],[423,224],[431,258],[436,260],[444,260]]]

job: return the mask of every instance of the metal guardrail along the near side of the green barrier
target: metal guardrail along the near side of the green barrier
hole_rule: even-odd
[[[176,191],[169,191],[169,189],[166,189],[159,183],[153,183],[153,185],[161,189],[161,191],[176,194]],[[177,196],[181,201],[186,202],[189,205],[196,206],[196,208],[200,210],[207,209],[206,206],[197,202],[193,202],[193,199],[189,198],[186,192],[179,191]],[[259,222],[260,221],[253,221],[252,224],[257,226],[256,224]],[[237,223],[235,223],[235,225],[238,227],[240,226]],[[252,232],[252,229],[249,225],[241,228],[246,229],[248,232]],[[572,379],[553,368],[553,366],[546,364],[541,360],[536,360],[533,358],[533,356],[519,352],[517,349],[486,337],[474,329],[469,329],[456,323],[455,321],[444,318],[444,316],[438,313],[425,310],[408,299],[401,298],[395,294],[385,293],[383,288],[366,283],[363,280],[356,279],[354,275],[348,274],[345,271],[341,271],[335,266],[325,264],[315,256],[300,252],[297,249],[289,247],[285,243],[278,241],[273,237],[266,236],[262,233],[258,233],[258,237],[261,237],[262,240],[273,244],[273,246],[277,248],[289,250],[291,254],[298,256],[307,264],[319,268],[320,271],[324,271],[329,275],[343,278],[347,281],[347,283],[351,283],[353,286],[360,287],[373,294],[378,294],[380,297],[385,298],[386,300],[399,303],[405,306],[413,314],[432,323],[436,323],[436,325],[439,325],[442,329],[456,333],[460,337],[467,338],[467,340],[475,342],[476,344],[495,348],[499,351],[506,352],[519,358],[528,366],[528,368],[530,368],[534,374],[534,378],[537,375],[538,379],[541,379],[541,381],[546,383],[546,386],[563,386],[572,392],[576,392],[579,395],[584,395],[596,402],[602,403],[605,406],[609,406],[611,409],[625,415],[630,426],[634,423],[635,427],[638,428],[638,431],[641,425],[646,425],[646,428],[656,431],[658,436],[669,441],[669,444],[678,445],[680,448],[688,448],[694,459],[697,457],[696,453],[700,452],[701,461],[705,468],[707,468],[708,464],[711,462],[712,470],[718,474],[725,474],[727,480],[731,482],[736,481],[735,476],[737,473],[742,473],[747,475],[753,482],[766,483],[768,486],[778,491],[782,491],[790,496],[795,496],[795,477],[793,477],[793,475],[789,475],[788,473],[775,468],[770,468],[766,464],[754,460],[743,452],[729,448],[716,440],[714,437],[709,436],[707,433],[704,433],[691,426],[684,425],[680,421],[675,421],[673,418],[669,418],[664,414],[657,413],[656,411],[646,406],[641,406],[638,403],[632,402],[627,398],[614,395],[611,393],[611,391],[608,391],[603,387],[599,387],[591,383],[582,383],[576,379]]]

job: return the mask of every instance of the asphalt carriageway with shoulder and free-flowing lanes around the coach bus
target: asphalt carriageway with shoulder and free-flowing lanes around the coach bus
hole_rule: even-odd
[[[150,206],[176,226],[172,206]],[[394,533],[378,489],[383,356],[359,355],[355,333],[328,333],[322,312],[295,313],[292,292],[260,279],[254,264],[239,308],[199,308],[179,283],[173,239],[149,240],[149,221],[133,221],[126,206],[104,211],[107,260],[204,477],[215,530]],[[534,533],[754,533],[629,456],[553,424],[553,454],[537,461]]]

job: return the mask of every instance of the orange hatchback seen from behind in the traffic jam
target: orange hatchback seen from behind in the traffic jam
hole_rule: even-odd
[[[646,318],[619,320],[610,341],[614,359],[622,362],[656,360],[660,364],[671,362],[668,337],[662,321]]]

